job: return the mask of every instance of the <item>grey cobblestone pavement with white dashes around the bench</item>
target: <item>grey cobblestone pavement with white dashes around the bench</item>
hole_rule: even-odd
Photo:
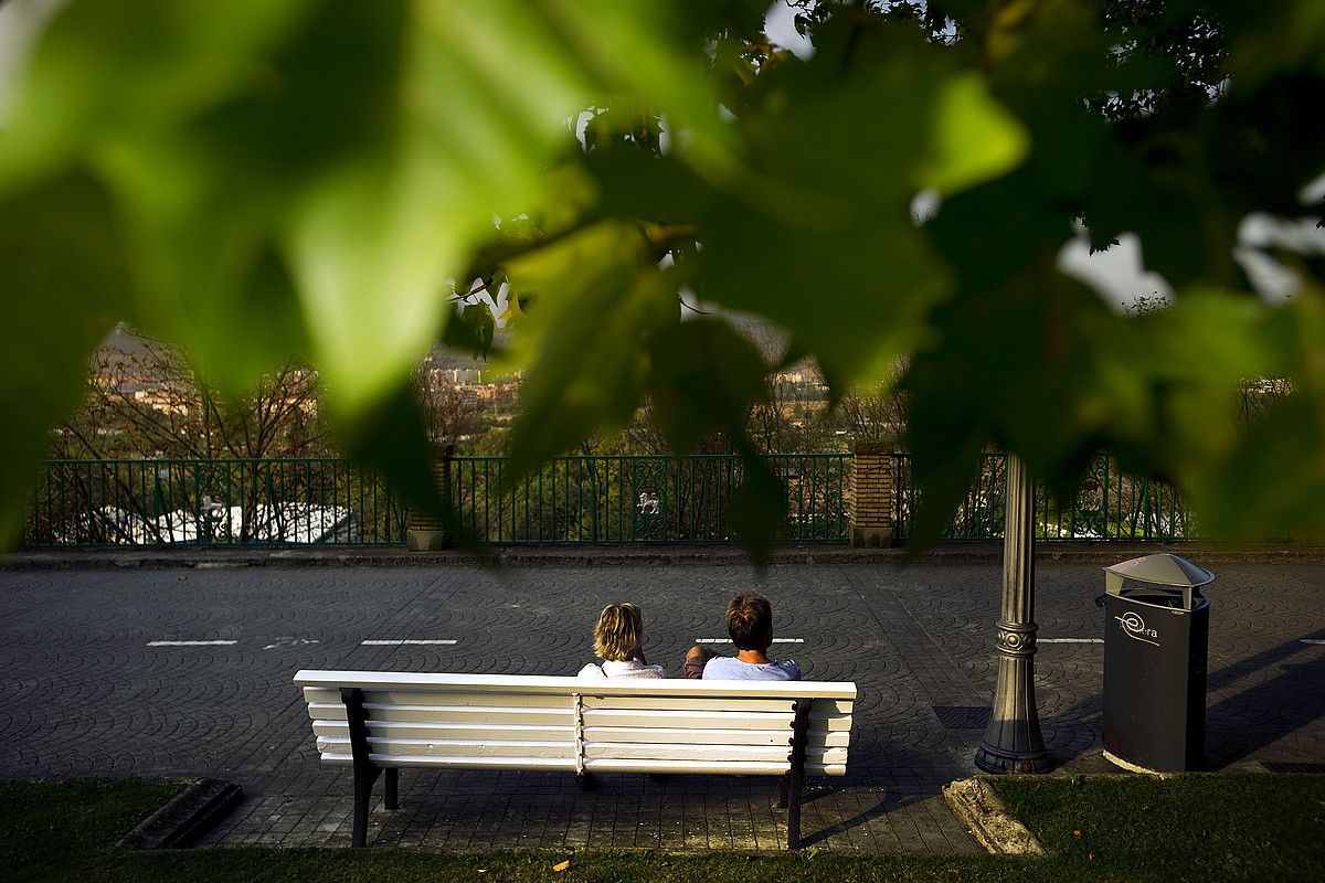
[[[1222,564],[1210,641],[1207,755],[1216,769],[1325,761],[1325,565]],[[860,688],[849,773],[810,780],[807,845],[974,853],[939,788],[971,759],[996,663],[996,556],[974,563],[613,567],[216,568],[0,572],[0,776],[213,776],[245,802],[221,845],[348,843],[348,770],[322,768],[298,669],[571,674],[610,601],[645,612],[651,661],[680,674],[694,638],[723,637],[737,590],[774,602],[806,676]],[[1040,638],[1102,633],[1097,563],[1044,561]],[[368,639],[453,639],[372,646]],[[159,641],[232,641],[150,646]],[[1314,642],[1314,643],[1312,643]],[[1036,692],[1060,770],[1100,756],[1098,643],[1044,642]],[[937,710],[937,711],[935,711]],[[965,711],[963,711],[965,710]],[[945,723],[939,715],[943,715]],[[490,847],[782,849],[774,778],[401,773],[401,808],[370,842]],[[379,785],[380,794],[380,785]]]

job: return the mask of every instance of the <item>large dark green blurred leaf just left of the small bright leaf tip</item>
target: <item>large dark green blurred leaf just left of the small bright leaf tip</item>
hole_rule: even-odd
[[[910,203],[949,165],[935,109],[954,74],[902,33],[831,32],[808,64],[762,75],[742,118],[749,168],[684,191],[704,244],[701,297],[792,330],[839,385],[921,344],[950,286]],[[991,168],[979,160],[947,183]]]

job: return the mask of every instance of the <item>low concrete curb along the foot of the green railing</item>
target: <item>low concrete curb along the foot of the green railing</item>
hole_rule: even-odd
[[[1325,548],[1279,544],[1157,545],[1140,543],[1041,543],[1036,560],[1048,563],[1116,564],[1153,552],[1175,551],[1203,564],[1301,564],[1325,561]],[[953,543],[925,555],[905,548],[856,549],[844,545],[784,545],[772,552],[770,565],[864,564],[990,564],[1003,560],[1000,543]],[[111,569],[229,569],[269,568],[481,568],[481,567],[640,567],[640,565],[750,567],[745,549],[731,545],[644,547],[497,547],[486,556],[473,552],[411,552],[405,548],[131,548],[32,549],[0,556],[0,571],[111,571]]]

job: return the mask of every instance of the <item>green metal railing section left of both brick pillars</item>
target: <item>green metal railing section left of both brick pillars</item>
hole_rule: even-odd
[[[317,459],[49,461],[26,545],[394,545],[405,510],[354,463]]]

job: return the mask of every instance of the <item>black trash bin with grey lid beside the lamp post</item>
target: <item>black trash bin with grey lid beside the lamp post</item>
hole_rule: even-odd
[[[1104,756],[1137,772],[1199,767],[1214,575],[1177,555],[1104,568]]]

